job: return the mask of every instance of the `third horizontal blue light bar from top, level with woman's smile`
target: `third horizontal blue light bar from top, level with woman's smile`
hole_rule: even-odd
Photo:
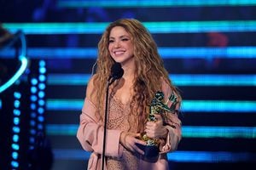
[[[29,48],[32,59],[96,59],[96,48]],[[255,47],[172,48],[160,47],[162,59],[255,59]],[[13,58],[14,49],[0,51],[0,56]],[[42,68],[44,69],[44,68]],[[44,71],[44,70],[42,70]]]

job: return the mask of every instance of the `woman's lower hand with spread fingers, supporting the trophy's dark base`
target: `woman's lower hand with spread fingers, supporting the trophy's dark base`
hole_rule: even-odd
[[[137,144],[146,145],[146,142],[143,140],[137,139],[140,137],[140,133],[125,133],[122,132],[120,135],[120,143],[127,149],[132,152],[138,152],[141,155],[144,155],[144,151],[141,150]]]

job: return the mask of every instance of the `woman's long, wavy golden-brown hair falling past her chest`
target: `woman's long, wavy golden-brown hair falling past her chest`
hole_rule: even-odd
[[[110,75],[110,68],[114,63],[109,51],[108,41],[110,31],[115,26],[122,26],[125,31],[131,35],[131,41],[134,44],[135,59],[135,78],[133,82],[134,95],[131,99],[131,114],[137,119],[138,131],[143,131],[143,123],[147,121],[148,105],[153,99],[156,91],[161,89],[161,79],[166,81],[177,93],[177,89],[172,85],[168,77],[163,60],[157,50],[157,45],[148,30],[142,23],[135,19],[121,19],[111,23],[98,43],[98,58],[96,75],[94,78],[94,87],[96,87],[96,105],[97,113],[100,119],[104,117],[104,105],[106,95],[106,82]]]

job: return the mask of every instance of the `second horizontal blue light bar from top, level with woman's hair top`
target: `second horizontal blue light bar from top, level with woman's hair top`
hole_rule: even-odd
[[[28,34],[102,34],[109,22],[4,23],[9,31],[22,29]],[[253,32],[256,20],[193,20],[143,22],[154,33]],[[31,56],[29,54],[29,56]],[[39,55],[40,57],[42,55]]]

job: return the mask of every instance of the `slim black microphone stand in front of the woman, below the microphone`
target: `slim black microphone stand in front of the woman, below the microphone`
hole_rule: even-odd
[[[105,161],[105,149],[106,149],[106,133],[107,133],[107,116],[108,116],[108,90],[109,86],[113,83],[115,78],[112,78],[112,81],[109,82],[111,77],[108,78],[107,89],[106,89],[106,101],[105,101],[105,117],[104,117],[104,133],[103,133],[103,149],[102,149],[102,170],[104,170],[104,161]]]

